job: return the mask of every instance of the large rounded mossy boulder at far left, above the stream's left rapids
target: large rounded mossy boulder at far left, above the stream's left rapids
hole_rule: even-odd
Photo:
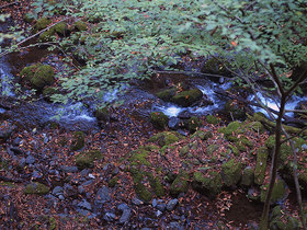
[[[30,82],[36,90],[42,90],[46,85],[52,85],[55,81],[55,72],[49,65],[39,66]]]

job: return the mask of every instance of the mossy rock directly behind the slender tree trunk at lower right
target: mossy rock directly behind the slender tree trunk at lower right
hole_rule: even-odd
[[[261,194],[260,194],[260,200],[262,203],[265,202],[265,197],[268,194],[268,187],[269,185],[262,185],[261,186]],[[272,196],[271,196],[271,204],[275,204],[277,202],[282,202],[287,197],[287,185],[285,183],[284,180],[282,179],[277,179],[275,184],[274,184],[274,188],[272,192]]]

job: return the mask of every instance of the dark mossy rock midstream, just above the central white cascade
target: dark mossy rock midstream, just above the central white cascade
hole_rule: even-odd
[[[198,102],[202,97],[203,97],[203,92],[201,90],[191,89],[177,93],[172,97],[172,102],[180,106],[189,107],[195,104],[196,102]]]

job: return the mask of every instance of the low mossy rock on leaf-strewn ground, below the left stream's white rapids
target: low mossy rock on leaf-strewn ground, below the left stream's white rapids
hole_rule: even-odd
[[[87,168],[93,168],[94,161],[102,159],[102,153],[99,150],[91,150],[89,152],[82,152],[76,157],[76,165],[79,170]]]

